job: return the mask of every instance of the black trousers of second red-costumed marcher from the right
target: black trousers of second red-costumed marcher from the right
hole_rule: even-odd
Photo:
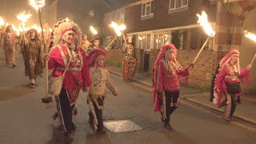
[[[170,122],[170,114],[174,112],[178,108],[179,104],[179,91],[165,91],[165,98],[166,98],[166,119],[165,122]]]

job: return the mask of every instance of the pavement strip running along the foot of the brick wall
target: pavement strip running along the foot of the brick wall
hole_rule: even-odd
[[[122,77],[122,69],[115,66],[107,66],[111,74]],[[149,73],[139,73],[134,75],[133,80],[139,82],[144,86],[152,88],[152,78]],[[209,101],[210,92],[190,88],[187,86],[180,86],[180,98],[189,102],[194,102],[197,105],[204,106],[210,110],[222,112],[224,108],[217,108]],[[256,94],[242,95],[242,103],[238,104],[234,112],[233,118],[248,122],[256,126]]]

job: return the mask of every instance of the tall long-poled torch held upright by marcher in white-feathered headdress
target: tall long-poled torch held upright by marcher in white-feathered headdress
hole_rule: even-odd
[[[45,38],[43,35],[43,29],[42,29],[42,16],[41,16],[41,8],[42,6],[45,6],[45,0],[30,0],[30,5],[33,6],[36,10],[38,10],[38,16],[39,16],[39,22],[40,22],[40,26],[41,26],[41,34],[42,34],[42,41],[43,41],[43,46],[44,49],[46,51],[46,54],[48,54],[48,50],[46,48],[46,44],[45,44]],[[51,97],[48,96],[48,61],[45,62],[45,66],[46,66],[46,95],[44,98],[42,98],[42,102],[44,103],[50,103],[53,102],[53,99]]]

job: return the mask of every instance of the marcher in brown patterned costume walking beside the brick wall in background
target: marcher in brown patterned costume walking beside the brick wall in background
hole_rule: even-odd
[[[122,78],[125,82],[131,82],[136,71],[136,54],[133,37],[127,38],[126,46],[123,49],[124,58],[122,61]]]

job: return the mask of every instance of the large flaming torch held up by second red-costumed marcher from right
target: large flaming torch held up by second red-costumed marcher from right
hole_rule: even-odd
[[[204,44],[202,45],[202,47],[199,50],[197,56],[194,58],[194,61],[190,65],[190,68],[193,68],[194,63],[198,60],[199,55],[202,53],[202,50],[205,48],[206,43],[209,41],[210,37],[213,38],[214,35],[215,35],[215,31],[213,30],[212,26],[210,26],[210,23],[208,22],[208,18],[207,18],[206,12],[202,11],[202,15],[197,14],[197,16],[198,16],[198,23],[206,31],[206,34],[208,35],[208,38],[206,39],[206,42],[204,42]]]

